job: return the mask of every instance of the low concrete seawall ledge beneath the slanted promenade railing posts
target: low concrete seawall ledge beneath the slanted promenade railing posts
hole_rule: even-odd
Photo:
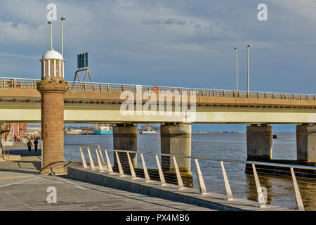
[[[227,201],[225,195],[217,193],[209,193],[207,195],[200,195],[197,190],[187,188],[185,190],[178,190],[178,186],[169,184],[168,186],[160,186],[159,182],[152,181],[145,183],[144,179],[131,180],[129,176],[119,177],[116,174],[110,175],[91,171],[90,169],[81,169],[68,167],[68,177],[79,181],[85,181],[91,184],[98,184],[100,186],[107,186],[110,188],[117,188],[124,191],[131,191],[134,193],[142,193],[157,198],[164,198],[174,200],[180,203],[187,203],[191,205],[199,205],[209,207],[213,210],[222,211],[275,211],[275,210],[289,210],[287,208],[276,207],[271,205],[265,208],[259,208],[258,204],[253,201],[235,199]]]

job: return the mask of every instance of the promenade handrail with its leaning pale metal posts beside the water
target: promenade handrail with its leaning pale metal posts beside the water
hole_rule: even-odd
[[[84,149],[86,149],[87,152],[88,152],[88,160],[90,162],[90,167],[91,168],[89,168],[87,163],[86,163],[86,160],[85,160],[85,157],[84,157],[84,152],[83,152]],[[98,167],[96,167],[94,165],[93,158],[92,158],[92,155],[91,155],[91,150],[95,150],[95,152],[96,152],[96,157],[98,159]],[[105,161],[103,160],[102,150],[105,152],[105,155],[106,155],[107,169],[103,169],[103,165],[105,165]],[[143,158],[143,155],[154,155],[155,158],[156,158],[156,162],[157,162],[157,167],[158,167],[158,172],[159,172],[159,181],[160,181],[160,185],[161,186],[165,186],[166,185],[166,181],[165,181],[165,178],[164,178],[164,176],[166,176],[166,174],[164,174],[164,172],[162,171],[163,162],[162,163],[159,162],[158,155],[164,156],[164,157],[169,157],[169,160],[171,160],[171,159],[173,160],[173,167],[174,167],[175,172],[176,172],[176,180],[177,180],[177,184],[178,184],[178,190],[183,190],[185,188],[183,186],[183,180],[182,180],[183,178],[180,175],[179,167],[178,167],[178,164],[176,162],[176,158],[190,158],[190,159],[195,161],[195,170],[197,172],[197,183],[199,185],[199,193],[201,195],[207,194],[207,191],[206,191],[206,186],[205,186],[204,179],[203,179],[203,176],[202,176],[202,172],[201,172],[201,169],[199,167],[198,160],[209,160],[209,161],[220,162],[220,167],[221,167],[221,170],[222,170],[222,173],[223,173],[223,181],[224,181],[224,184],[225,184],[225,191],[226,191],[226,194],[227,194],[226,200],[228,200],[228,201],[229,200],[234,200],[234,198],[232,197],[232,189],[230,188],[230,184],[229,184],[229,181],[228,181],[228,176],[227,176],[227,174],[225,172],[225,167],[224,167],[224,163],[223,162],[238,162],[238,163],[250,164],[252,166],[252,169],[253,169],[253,172],[254,172],[254,179],[256,181],[255,183],[256,183],[256,192],[258,194],[258,198],[257,198],[257,200],[258,200],[258,207],[266,207],[266,200],[265,200],[265,197],[264,197],[264,194],[263,194],[263,187],[260,184],[260,180],[259,180],[258,173],[257,173],[257,170],[256,170],[256,165],[270,165],[270,166],[275,166],[275,167],[287,167],[291,171],[291,177],[292,177],[293,186],[294,186],[294,192],[295,192],[295,196],[296,196],[296,203],[297,203],[297,206],[298,206],[298,210],[300,210],[300,211],[304,211],[305,208],[304,208],[303,201],[302,201],[302,198],[301,198],[300,190],[298,188],[298,182],[296,181],[296,174],[294,172],[294,168],[295,169],[312,169],[312,170],[316,170],[316,167],[311,167],[311,166],[286,165],[286,164],[280,164],[280,163],[255,162],[255,161],[244,161],[244,160],[228,160],[228,159],[220,159],[220,158],[200,158],[200,157],[194,157],[194,156],[188,156],[188,155],[175,155],[175,154],[166,154],[166,153],[140,153],[140,152],[132,151],[132,150],[113,150],[113,149],[100,148],[99,146],[98,146],[98,148],[94,148],[94,147],[91,147],[91,146],[79,146],[79,153],[80,153],[80,156],[81,156],[81,162],[82,162],[82,165],[83,165],[84,169],[96,170],[98,168],[100,170],[100,172],[109,172],[110,174],[115,174],[113,172],[110,159],[109,159],[109,157],[107,155],[107,151],[112,151],[113,153],[115,153],[114,154],[114,161],[115,161],[115,158],[116,158],[116,163],[117,163],[116,166],[119,169],[119,174],[118,174],[119,176],[126,176],[126,174],[124,174],[124,169],[122,167],[122,163],[121,163],[122,160],[123,160],[124,164],[128,164],[129,165],[129,169],[130,169],[130,174],[129,175],[131,175],[131,179],[139,179],[139,177],[136,176],[136,173],[135,173],[135,170],[134,170],[134,167],[136,167],[136,166],[133,165],[133,163],[131,161],[130,153],[133,153],[134,155],[135,154],[136,155],[140,154],[141,160],[142,160],[142,164],[143,164],[143,172],[144,172],[144,176],[145,176],[145,179],[144,179],[145,182],[151,182],[151,180],[150,180],[150,176],[148,176],[148,171],[147,171],[147,167],[145,165],[145,160]],[[124,154],[121,155],[121,154],[118,154],[118,153],[126,153],[128,160],[126,159],[126,156],[124,156]],[[102,162],[101,162],[100,159],[102,160]],[[125,168],[126,168],[126,165],[125,165]]]

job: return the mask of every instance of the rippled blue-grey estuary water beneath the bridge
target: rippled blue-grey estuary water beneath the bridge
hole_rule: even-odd
[[[158,136],[158,139],[156,139]],[[296,134],[279,133],[278,139],[273,139],[273,159],[296,160]],[[107,135],[67,135],[65,136],[65,159],[80,161],[78,146],[70,145],[99,144],[101,148],[113,149],[113,136]],[[220,158],[230,160],[246,160],[246,134],[192,134],[192,156],[199,158]],[[159,134],[138,134],[138,152],[160,153]],[[109,154],[112,161],[112,153]],[[113,162],[113,161],[112,161]],[[154,157],[145,156],[148,168],[157,169]],[[140,157],[138,166],[141,167]],[[199,160],[206,189],[209,192],[225,194],[223,174],[220,162]],[[256,200],[256,184],[254,176],[245,174],[245,165],[242,163],[225,162],[232,194],[237,198]],[[198,188],[195,164],[191,161],[191,171],[194,188]],[[291,177],[259,175],[261,186],[268,193],[269,204],[288,208],[296,208],[296,198]],[[316,210],[316,179],[297,178],[305,210]]]

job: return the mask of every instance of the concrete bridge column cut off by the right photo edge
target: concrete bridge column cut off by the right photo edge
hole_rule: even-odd
[[[316,162],[316,124],[296,126],[296,154],[301,162]]]

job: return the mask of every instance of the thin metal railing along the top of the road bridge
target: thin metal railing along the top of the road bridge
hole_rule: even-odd
[[[19,88],[19,89],[36,89],[37,82],[40,79],[25,79],[0,77],[0,88]],[[170,91],[171,94],[187,94],[196,96],[212,96],[212,97],[228,97],[228,98],[260,98],[260,99],[286,99],[286,100],[308,100],[315,101],[315,94],[291,94],[264,91],[233,91],[222,89],[197,89],[174,86],[153,86],[153,85],[137,85],[137,84],[112,84],[97,82],[69,82],[69,89],[74,91],[107,91],[122,92],[132,91],[138,93],[140,91],[157,90],[158,93]],[[168,92],[164,92],[168,93]]]

